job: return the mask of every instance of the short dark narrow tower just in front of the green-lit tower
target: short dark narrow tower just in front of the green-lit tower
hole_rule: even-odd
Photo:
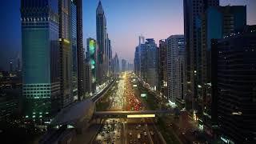
[[[92,74],[91,74],[91,65],[90,63],[86,60],[86,65],[85,65],[85,80],[86,80],[86,85],[85,85],[85,89],[86,89],[86,96],[88,97],[88,94],[91,93],[91,84],[92,84]]]

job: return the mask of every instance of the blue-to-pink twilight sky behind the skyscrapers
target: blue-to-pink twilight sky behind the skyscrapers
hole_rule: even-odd
[[[159,39],[183,34],[183,0],[102,0],[113,52],[133,62],[138,36]],[[247,24],[256,24],[256,0],[220,0],[222,6],[247,5]],[[98,0],[83,1],[83,37],[96,38]],[[21,52],[20,0],[0,5],[0,70]]]

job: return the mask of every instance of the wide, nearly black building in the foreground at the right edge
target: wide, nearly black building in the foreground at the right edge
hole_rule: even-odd
[[[212,86],[221,139],[254,143],[256,138],[256,26],[212,41]],[[232,142],[231,142],[232,141]]]

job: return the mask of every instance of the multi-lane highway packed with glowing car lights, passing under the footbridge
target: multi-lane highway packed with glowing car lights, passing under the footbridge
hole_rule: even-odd
[[[130,73],[121,75],[118,89],[110,96],[107,110],[146,110],[140,95],[135,94]],[[153,118],[111,118],[102,120],[102,126],[93,143],[163,143]]]

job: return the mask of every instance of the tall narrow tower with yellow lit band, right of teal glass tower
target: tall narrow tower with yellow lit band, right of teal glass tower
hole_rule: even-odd
[[[71,50],[71,1],[58,1],[59,14],[59,41],[60,41],[60,70],[61,70],[61,108],[70,105],[73,102],[73,87],[72,87],[72,50]]]

